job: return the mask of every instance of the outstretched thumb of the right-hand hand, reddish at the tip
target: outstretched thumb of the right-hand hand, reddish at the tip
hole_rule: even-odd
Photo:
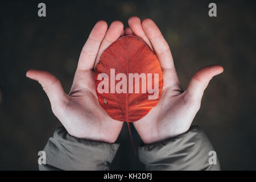
[[[186,100],[201,101],[204,90],[207,88],[209,81],[212,77],[222,73],[223,71],[224,69],[220,65],[210,65],[197,71],[192,77],[185,92]]]

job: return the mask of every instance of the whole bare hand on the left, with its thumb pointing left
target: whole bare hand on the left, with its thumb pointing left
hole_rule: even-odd
[[[46,71],[30,70],[27,77],[37,80],[46,92],[53,113],[70,135],[77,138],[114,143],[123,122],[110,118],[98,103],[94,84],[94,66],[101,53],[119,36],[123,35],[123,24],[113,22],[108,31],[104,21],[96,23],[82,48],[79,63],[69,94],[55,76]]]

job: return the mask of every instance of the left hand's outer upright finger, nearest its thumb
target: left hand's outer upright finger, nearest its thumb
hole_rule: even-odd
[[[100,48],[102,39],[104,38],[107,29],[108,24],[103,20],[95,24],[90,32],[88,40],[82,48],[77,70],[85,71],[93,69],[98,49]]]

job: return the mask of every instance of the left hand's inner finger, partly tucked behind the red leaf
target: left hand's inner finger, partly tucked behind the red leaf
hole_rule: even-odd
[[[110,24],[109,30],[106,32],[104,39],[102,40],[100,49],[98,50],[98,55],[96,57],[96,61],[94,67],[100,61],[100,57],[103,51],[110,46],[115,40],[117,40],[122,34],[123,23],[120,21],[114,21]]]

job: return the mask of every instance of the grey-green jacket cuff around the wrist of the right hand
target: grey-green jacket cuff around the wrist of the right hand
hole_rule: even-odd
[[[210,164],[210,151],[214,149],[203,130],[192,126],[177,137],[139,147],[138,155],[147,170],[220,170],[217,156],[217,163]]]

